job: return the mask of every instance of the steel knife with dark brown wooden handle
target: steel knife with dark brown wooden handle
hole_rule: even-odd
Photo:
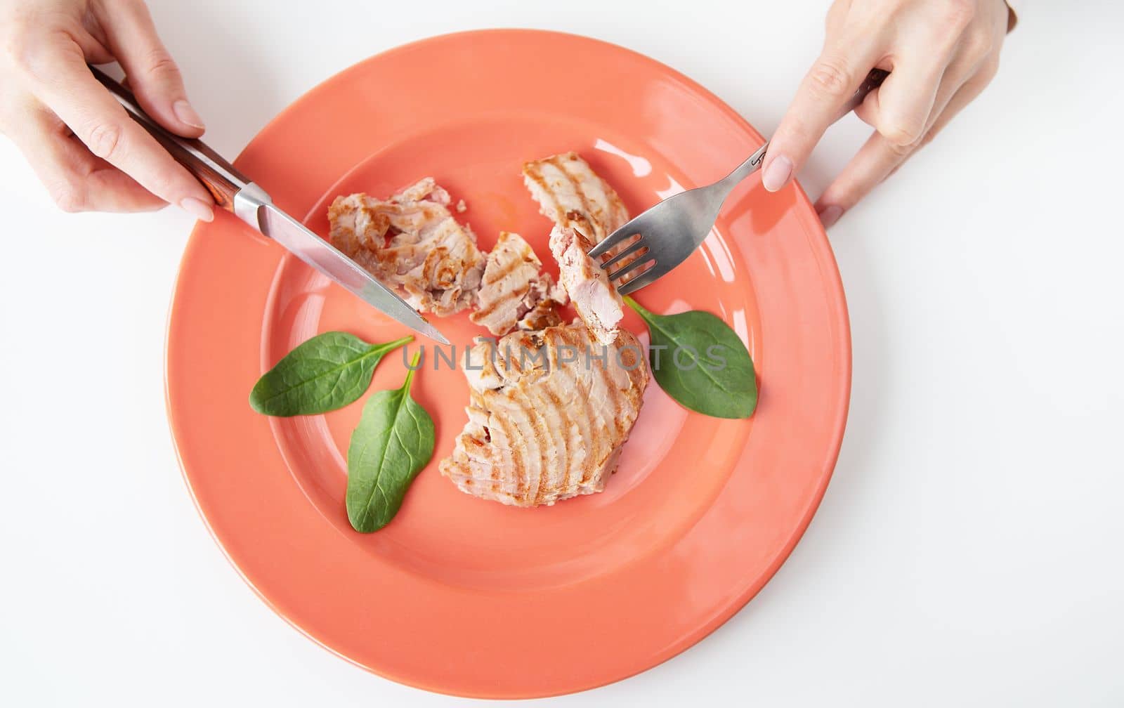
[[[430,339],[448,344],[436,327],[417,314],[357,263],[324,240],[300,221],[279,209],[270,196],[202,140],[180,137],[148,117],[133,93],[96,66],[90,66],[129,116],[163,145],[172,157],[202,182],[215,203],[281,244],[308,265],[354,293],[368,305]]]

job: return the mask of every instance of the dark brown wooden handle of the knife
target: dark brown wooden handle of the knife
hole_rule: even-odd
[[[171,153],[178,163],[202,182],[207,191],[215,198],[215,203],[234,212],[234,196],[250,184],[246,175],[223,158],[202,140],[185,138],[164,129],[140,108],[133,92],[126,89],[97,66],[90,66],[93,78],[109,89],[114,98],[125,108],[129,116],[140,124],[156,142]]]

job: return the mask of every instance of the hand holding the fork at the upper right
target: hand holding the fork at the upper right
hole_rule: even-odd
[[[823,52],[769,143],[764,188],[800,171],[871,69],[889,71],[855,110],[874,133],[816,202],[834,224],[987,87],[1009,12],[1004,0],[836,0]]]

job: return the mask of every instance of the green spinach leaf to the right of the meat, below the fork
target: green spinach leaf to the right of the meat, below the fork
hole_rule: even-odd
[[[652,335],[652,375],[668,396],[715,418],[749,418],[758,406],[758,378],[750,353],[729,328],[709,312],[656,315],[632,298],[625,302]]]

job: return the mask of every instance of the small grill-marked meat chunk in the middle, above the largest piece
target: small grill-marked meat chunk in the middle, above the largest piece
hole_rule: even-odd
[[[479,309],[469,319],[493,335],[505,335],[540,306],[544,309],[534,319],[549,317],[553,303],[565,305],[566,297],[549,273],[540,272],[542,267],[531,244],[518,234],[502,232],[488,254],[477,296]]]

